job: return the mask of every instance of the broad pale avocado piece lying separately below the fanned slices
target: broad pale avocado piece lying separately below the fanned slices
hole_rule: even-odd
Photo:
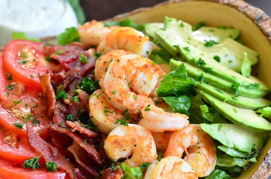
[[[243,152],[259,149],[269,138],[269,132],[253,132],[237,124],[199,124],[212,138],[229,148]]]

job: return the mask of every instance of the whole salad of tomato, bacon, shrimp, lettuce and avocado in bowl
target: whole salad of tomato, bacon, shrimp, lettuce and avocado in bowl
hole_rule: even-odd
[[[93,20],[58,44],[14,33],[0,61],[0,177],[238,176],[271,130],[270,89],[240,33],[171,17]]]

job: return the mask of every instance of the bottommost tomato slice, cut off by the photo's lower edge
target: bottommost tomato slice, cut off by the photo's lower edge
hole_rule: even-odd
[[[20,178],[20,179],[68,179],[70,176],[63,171],[46,171],[46,167],[41,170],[24,169],[20,165],[0,158],[0,178]]]

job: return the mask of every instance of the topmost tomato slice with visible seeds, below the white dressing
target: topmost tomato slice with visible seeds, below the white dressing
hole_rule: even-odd
[[[2,60],[5,70],[16,80],[41,91],[39,75],[47,72],[44,43],[12,40],[4,48]]]

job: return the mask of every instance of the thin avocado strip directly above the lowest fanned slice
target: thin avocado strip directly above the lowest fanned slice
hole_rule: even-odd
[[[231,93],[227,93],[226,91],[216,89],[215,87],[208,85],[204,82],[195,81],[197,84],[197,89],[202,90],[203,92],[212,95],[216,99],[220,101],[227,102],[239,108],[245,109],[259,109],[263,107],[267,107],[271,105],[271,102],[264,98],[247,98],[243,96],[238,96],[238,98],[234,98],[234,95]]]

